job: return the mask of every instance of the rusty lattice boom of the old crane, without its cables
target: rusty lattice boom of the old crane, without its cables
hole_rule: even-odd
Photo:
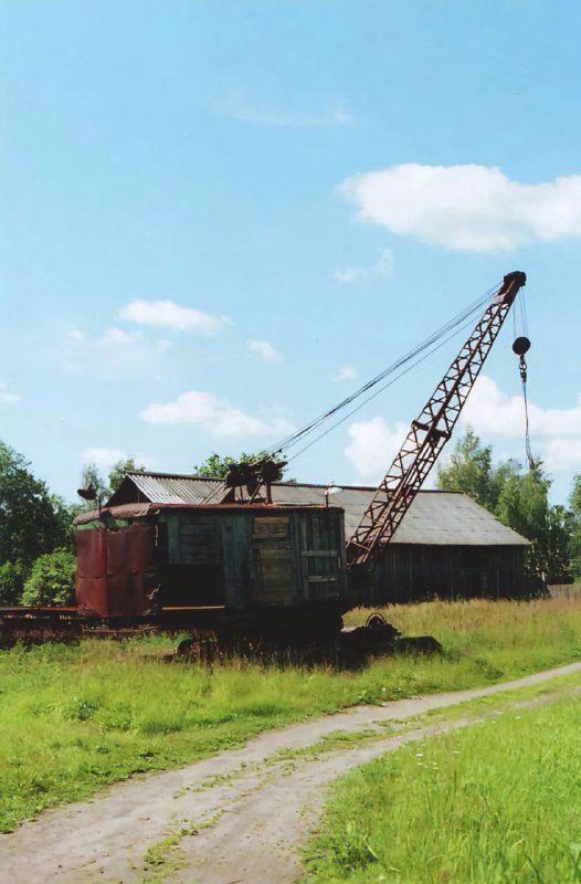
[[[403,445],[347,544],[349,569],[365,566],[392,539],[440,452],[451,438],[468,393],[526,282],[522,271],[514,271],[504,277],[498,292],[459,354],[419,417],[412,421]],[[521,355],[521,360],[522,358]]]

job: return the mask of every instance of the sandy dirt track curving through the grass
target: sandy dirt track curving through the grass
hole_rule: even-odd
[[[263,734],[242,749],[179,770],[118,783],[0,835],[0,881],[290,884],[300,875],[298,845],[316,824],[327,783],[405,741],[474,719],[390,737],[382,724],[579,671],[581,663],[573,663],[490,687],[360,706]],[[378,732],[372,741],[300,755],[325,736],[370,729]],[[152,848],[158,866],[144,862]]]

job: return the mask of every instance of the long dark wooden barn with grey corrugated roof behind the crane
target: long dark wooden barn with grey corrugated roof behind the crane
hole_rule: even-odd
[[[277,507],[340,507],[349,538],[374,487],[278,482],[272,486]],[[218,478],[168,473],[127,473],[107,503],[178,506],[180,513],[202,504],[234,503],[233,491]],[[457,492],[421,491],[391,544],[365,581],[369,604],[431,598],[514,598],[525,592],[524,556],[529,541],[507,528],[469,497]]]

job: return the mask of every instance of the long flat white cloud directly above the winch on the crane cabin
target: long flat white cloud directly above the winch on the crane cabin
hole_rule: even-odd
[[[141,418],[148,423],[197,424],[220,438],[283,435],[293,430],[288,421],[282,418],[267,421],[253,418],[213,393],[201,390],[181,393],[175,402],[152,403],[141,412]]]

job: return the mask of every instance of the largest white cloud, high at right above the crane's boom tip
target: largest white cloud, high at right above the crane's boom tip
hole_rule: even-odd
[[[467,252],[581,236],[581,175],[539,185],[497,167],[404,164],[346,179],[359,218],[392,233]]]

